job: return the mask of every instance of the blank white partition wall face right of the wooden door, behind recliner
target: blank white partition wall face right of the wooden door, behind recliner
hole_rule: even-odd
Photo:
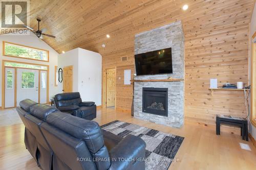
[[[78,91],[82,101],[101,105],[101,55],[79,48]]]

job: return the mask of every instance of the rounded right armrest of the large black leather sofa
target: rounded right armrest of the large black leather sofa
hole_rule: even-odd
[[[127,135],[110,151],[110,170],[132,169],[136,162],[141,162],[140,169],[145,168],[146,143],[139,137]]]

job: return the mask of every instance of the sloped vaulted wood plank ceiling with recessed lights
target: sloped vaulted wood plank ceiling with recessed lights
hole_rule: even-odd
[[[37,29],[36,17],[41,16],[41,28],[56,36],[44,40],[59,53],[82,47],[108,54],[124,50],[127,43],[133,47],[131,38],[136,33],[180,19],[186,39],[230,25],[236,29],[236,25],[248,24],[253,1],[31,0],[30,26]],[[182,10],[184,4],[187,11]]]

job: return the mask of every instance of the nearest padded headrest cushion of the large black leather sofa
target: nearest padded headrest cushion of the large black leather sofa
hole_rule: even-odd
[[[109,169],[110,156],[104,145],[102,131],[98,123],[62,112],[50,114],[46,122],[75,138],[83,140],[94,160],[106,160],[94,161],[97,169]]]

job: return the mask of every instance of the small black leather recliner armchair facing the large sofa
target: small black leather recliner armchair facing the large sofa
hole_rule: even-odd
[[[95,102],[82,102],[79,92],[56,94],[54,104],[61,112],[88,120],[96,118]]]

